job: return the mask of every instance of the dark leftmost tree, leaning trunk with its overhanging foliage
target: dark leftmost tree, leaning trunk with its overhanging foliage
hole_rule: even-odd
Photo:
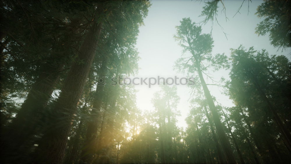
[[[65,63],[70,63],[70,58],[74,57],[73,47],[78,43],[75,39],[80,36],[79,15],[68,18],[67,22],[58,22],[54,18],[56,15],[64,19],[72,14],[72,11],[62,8],[63,13],[60,14],[48,12],[47,10],[56,10],[52,5],[41,1],[33,4],[29,1],[10,1],[4,2],[1,8],[5,20],[5,24],[1,25],[6,34],[6,41],[9,40],[9,44],[3,45],[6,59],[5,66],[1,66],[3,71],[1,82],[11,83],[5,87],[4,93],[8,92],[7,97],[17,92],[19,94],[15,96],[19,97],[22,97],[23,92],[28,93],[26,100],[16,111],[16,118],[5,129],[7,136],[3,142],[10,144],[4,143],[2,146],[9,154],[5,155],[5,158],[11,157],[12,160],[18,158],[16,154],[27,156],[35,140],[33,135],[38,133],[36,131],[41,129],[40,126],[43,124],[39,119],[53,90],[58,89],[59,78],[68,69],[64,67]],[[55,5],[65,6],[58,2]],[[75,11],[81,11],[83,6],[76,7],[72,4],[70,7]],[[60,29],[60,26],[63,28]],[[15,29],[23,27],[25,30]],[[26,64],[22,66],[22,62]],[[31,77],[23,76],[24,72],[29,72]],[[15,87],[17,85],[19,87]],[[11,87],[14,89],[10,90]]]

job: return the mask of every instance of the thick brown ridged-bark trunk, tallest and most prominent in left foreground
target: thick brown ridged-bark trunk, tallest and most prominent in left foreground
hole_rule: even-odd
[[[103,12],[103,6],[102,3],[99,4],[97,15],[100,17]],[[56,102],[53,116],[55,121],[45,132],[40,142],[37,162],[61,163],[63,160],[72,124],[71,120],[82,95],[96,53],[101,29],[102,22],[94,22],[79,50],[78,60],[73,64]]]

